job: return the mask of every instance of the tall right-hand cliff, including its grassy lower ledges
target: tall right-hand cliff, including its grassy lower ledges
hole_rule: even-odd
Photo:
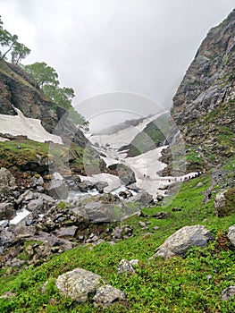
[[[215,165],[234,154],[234,64],[235,10],[209,31],[173,97],[172,116],[186,144]]]

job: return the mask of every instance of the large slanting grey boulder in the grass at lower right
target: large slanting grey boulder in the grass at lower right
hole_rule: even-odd
[[[208,241],[214,237],[203,225],[184,226],[173,233],[164,243],[155,250],[155,257],[171,258],[185,257],[186,252],[193,246],[205,248]]]

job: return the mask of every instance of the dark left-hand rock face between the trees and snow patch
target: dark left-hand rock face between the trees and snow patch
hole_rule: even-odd
[[[26,117],[41,120],[46,131],[55,131],[62,137],[66,134],[67,138],[82,148],[87,145],[88,140],[83,133],[67,122],[66,111],[34,86],[21,67],[0,61],[0,114],[16,115],[14,107],[20,109]]]

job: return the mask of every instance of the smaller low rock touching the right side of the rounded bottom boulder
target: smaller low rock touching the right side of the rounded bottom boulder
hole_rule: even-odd
[[[95,303],[101,303],[104,307],[110,306],[113,302],[126,300],[126,295],[121,290],[105,284],[97,289],[97,293],[93,298]]]

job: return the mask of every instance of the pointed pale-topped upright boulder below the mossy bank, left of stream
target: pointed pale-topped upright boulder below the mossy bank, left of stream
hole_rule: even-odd
[[[68,197],[68,187],[60,173],[53,174],[51,182],[48,182],[48,185],[45,184],[45,189],[48,195],[54,199],[67,199]]]

